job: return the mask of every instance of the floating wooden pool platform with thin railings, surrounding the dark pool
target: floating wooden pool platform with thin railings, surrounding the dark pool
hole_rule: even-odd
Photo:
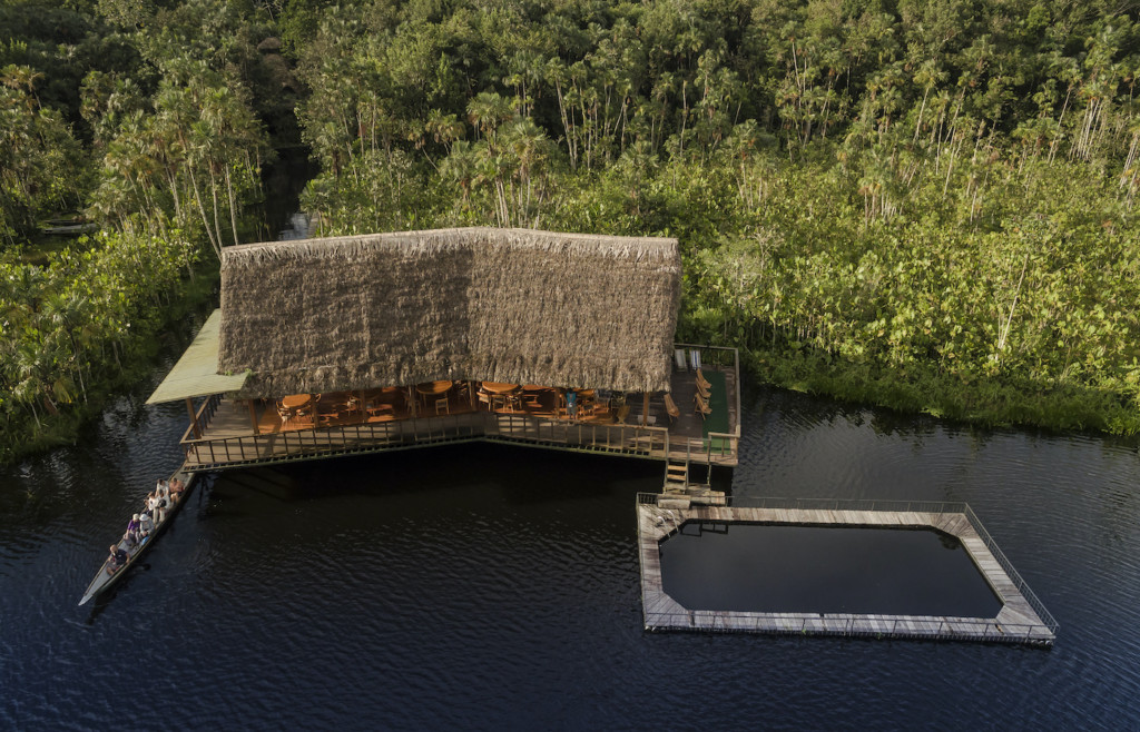
[[[840,635],[1052,645],[1058,625],[966,503],[757,499],[702,505],[666,494],[637,496],[645,630]],[[686,523],[933,528],[956,537],[1002,607],[995,617],[747,612],[683,607],[665,591],[661,542]]]

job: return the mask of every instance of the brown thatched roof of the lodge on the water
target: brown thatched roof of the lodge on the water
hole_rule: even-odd
[[[229,247],[219,369],[243,396],[435,379],[666,390],[676,239],[446,229]]]

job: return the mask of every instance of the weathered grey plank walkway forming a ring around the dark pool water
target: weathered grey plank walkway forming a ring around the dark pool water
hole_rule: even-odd
[[[686,520],[717,523],[819,524],[837,526],[934,527],[953,534],[970,553],[1002,601],[993,618],[817,612],[739,612],[689,610],[662,589],[660,542]],[[861,635],[1032,643],[1051,645],[1056,634],[1018,590],[964,513],[927,511],[865,511],[824,509],[760,509],[738,507],[662,508],[637,505],[637,541],[642,566],[645,628],[651,631],[732,631]]]

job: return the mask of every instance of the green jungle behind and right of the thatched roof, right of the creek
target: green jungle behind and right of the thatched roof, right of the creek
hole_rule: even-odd
[[[473,10],[339,6],[299,39],[312,88],[299,116],[325,168],[304,201],[325,231],[675,236],[678,337],[741,345],[774,383],[1140,428],[1129,15],[926,0]]]

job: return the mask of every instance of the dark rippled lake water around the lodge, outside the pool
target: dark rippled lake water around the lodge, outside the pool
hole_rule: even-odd
[[[1140,727],[1132,444],[747,394],[736,495],[967,501],[1052,650],[646,633],[661,466],[478,444],[222,474],[80,608],[179,464],[150,386],[0,474],[0,729]]]

